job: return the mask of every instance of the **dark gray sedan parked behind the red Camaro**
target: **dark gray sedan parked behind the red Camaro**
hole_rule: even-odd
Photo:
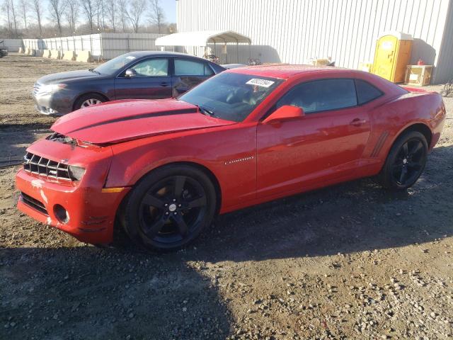
[[[183,53],[131,52],[96,69],[42,77],[33,98],[40,113],[64,115],[117,99],[177,97],[222,71],[213,62]]]

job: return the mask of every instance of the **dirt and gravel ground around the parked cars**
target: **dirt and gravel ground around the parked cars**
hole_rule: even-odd
[[[55,118],[38,77],[86,64],[0,59],[0,160]],[[431,86],[438,91],[440,86]],[[15,208],[0,169],[0,339],[451,339],[453,98],[407,193],[362,179],[220,216],[190,248],[98,249]]]

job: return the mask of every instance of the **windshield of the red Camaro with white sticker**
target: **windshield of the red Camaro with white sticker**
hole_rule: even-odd
[[[178,99],[217,118],[241,122],[282,82],[249,74],[221,73]]]

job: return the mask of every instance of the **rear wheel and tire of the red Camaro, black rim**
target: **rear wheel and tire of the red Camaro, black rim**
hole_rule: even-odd
[[[391,147],[379,174],[384,188],[403,191],[413,186],[425,169],[428,142],[418,131],[403,133]]]

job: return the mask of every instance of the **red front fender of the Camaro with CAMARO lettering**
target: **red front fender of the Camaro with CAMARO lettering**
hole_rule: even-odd
[[[134,186],[159,166],[190,162],[217,179],[222,206],[238,205],[256,195],[256,124],[153,136],[112,145],[112,150],[107,188]]]

